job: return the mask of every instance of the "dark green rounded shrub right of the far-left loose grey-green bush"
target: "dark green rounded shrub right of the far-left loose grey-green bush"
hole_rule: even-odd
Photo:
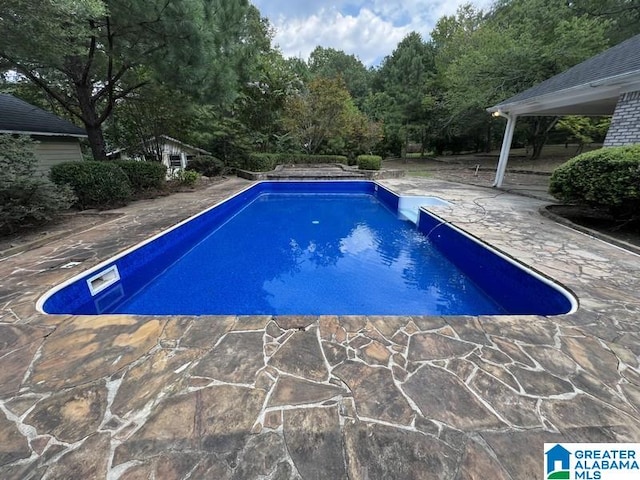
[[[66,162],[51,168],[51,180],[69,185],[82,208],[126,205],[133,193],[129,179],[114,162]]]

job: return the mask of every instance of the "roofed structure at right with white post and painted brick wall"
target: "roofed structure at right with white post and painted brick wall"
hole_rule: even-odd
[[[518,117],[613,115],[605,147],[640,143],[640,35],[487,111],[507,119],[494,187],[500,187]]]

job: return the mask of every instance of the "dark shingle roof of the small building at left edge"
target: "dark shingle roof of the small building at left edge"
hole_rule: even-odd
[[[13,95],[0,93],[0,132],[86,137],[83,128]]]

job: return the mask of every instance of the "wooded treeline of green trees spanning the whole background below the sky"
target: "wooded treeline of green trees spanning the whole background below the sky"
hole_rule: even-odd
[[[159,135],[231,165],[250,152],[485,151],[504,122],[486,107],[638,33],[638,0],[497,0],[367,68],[321,46],[284,58],[247,0],[4,0],[0,89],[86,128],[95,159]],[[578,143],[603,131],[556,123],[523,119],[515,142],[536,155],[552,131]]]

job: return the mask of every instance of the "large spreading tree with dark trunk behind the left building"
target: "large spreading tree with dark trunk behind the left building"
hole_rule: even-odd
[[[55,99],[106,156],[104,122],[149,82],[227,99],[251,57],[246,0],[5,0],[0,63]],[[146,67],[146,68],[145,68]]]

